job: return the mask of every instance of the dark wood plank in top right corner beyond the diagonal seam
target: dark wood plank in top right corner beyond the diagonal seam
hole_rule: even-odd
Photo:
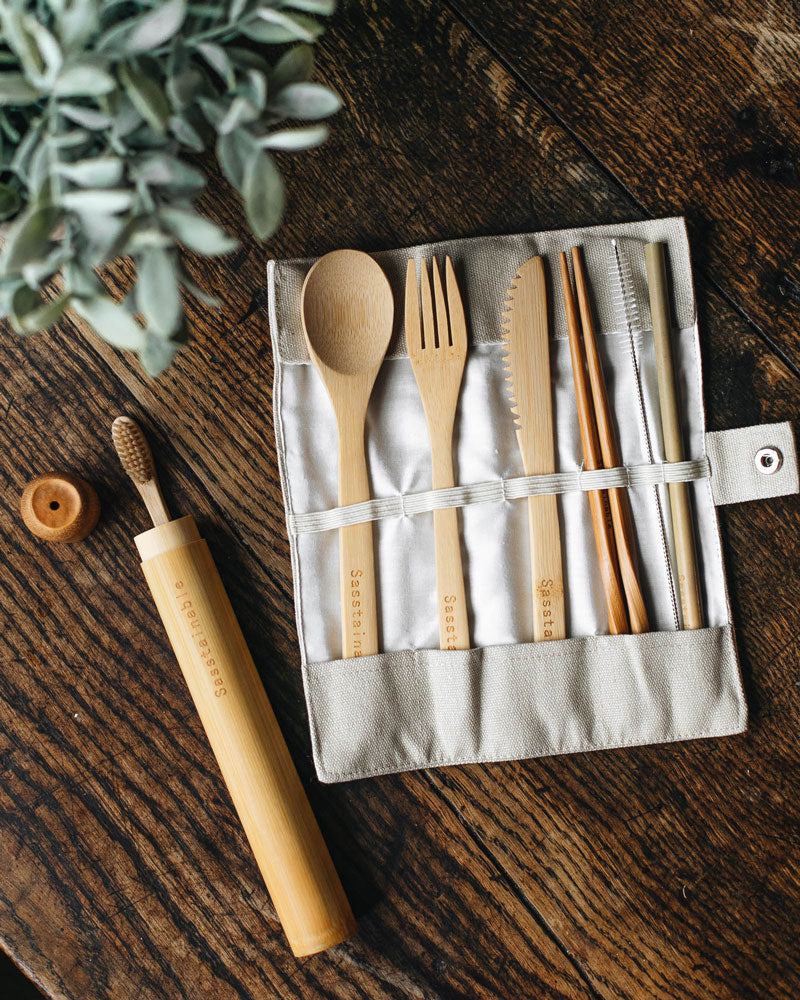
[[[697,266],[800,374],[800,8],[452,0],[634,211],[686,215]],[[577,179],[577,178],[576,178]]]

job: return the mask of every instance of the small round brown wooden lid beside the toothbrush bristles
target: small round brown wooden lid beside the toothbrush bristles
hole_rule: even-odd
[[[97,524],[100,501],[92,485],[71,472],[47,472],[22,493],[22,520],[47,542],[78,542]]]

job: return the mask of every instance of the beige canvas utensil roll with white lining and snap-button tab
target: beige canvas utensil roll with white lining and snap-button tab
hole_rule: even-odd
[[[620,242],[634,276],[635,344],[653,462],[642,442],[630,347],[608,277]],[[673,351],[687,461],[666,463],[650,330],[644,245],[667,245]],[[554,476],[525,477],[502,363],[505,290],[520,265],[544,256],[554,287],[558,252],[584,249],[597,334],[624,467],[582,468],[566,324],[551,293]],[[682,219],[449,241],[375,254],[396,301],[407,261],[448,254],[470,333],[454,442],[453,490],[432,491],[422,404],[405,356],[402,310],[367,416],[372,497],[337,508],[336,428],[308,363],[299,290],[312,261],[268,266],[275,355],[275,431],[294,575],[301,669],[317,773],[323,781],[470,761],[524,758],[741,732],[747,712],[725,584],[716,506],[796,492],[787,424],[706,433],[691,261]],[[556,284],[557,285],[557,277]],[[779,456],[759,466],[763,449]],[[689,483],[706,627],[676,631],[654,509],[656,484]],[[652,631],[609,636],[584,493],[629,487]],[[527,503],[557,493],[567,636],[533,643]],[[442,651],[431,511],[461,507],[473,648]],[[337,528],[373,522],[381,653],[340,659]],[[669,526],[667,526],[669,534]],[[671,536],[667,538],[672,546]],[[673,560],[674,565],[674,560]]]

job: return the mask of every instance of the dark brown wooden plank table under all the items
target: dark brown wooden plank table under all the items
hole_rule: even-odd
[[[321,786],[264,295],[273,255],[685,213],[710,427],[796,417],[798,51],[789,0],[345,2],[319,46],[333,137],[284,158],[268,246],[215,176],[242,248],[194,266],[223,307],[168,374],[69,322],[3,332],[0,939],[47,995],[800,995],[797,498],[721,511],[746,736]],[[123,411],[203,523],[360,917],[327,954],[289,954],[145,592]],[[101,494],[75,548],[16,513],[59,466]]]

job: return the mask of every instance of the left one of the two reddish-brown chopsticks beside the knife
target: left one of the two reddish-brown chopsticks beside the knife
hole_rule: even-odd
[[[600,443],[597,440],[592,394],[586,374],[586,359],[581,345],[580,318],[572,293],[572,278],[569,273],[567,255],[563,251],[559,254],[559,262],[561,264],[564,309],[567,313],[572,376],[575,380],[575,398],[578,403],[578,423],[581,430],[584,468],[600,469],[603,463]],[[608,610],[608,627],[612,635],[627,634],[630,629],[625,610],[625,598],[619,579],[617,548],[614,543],[608,510],[608,494],[605,490],[589,490],[588,499],[589,510],[592,514],[592,527],[594,528],[594,543],[597,547],[597,559],[600,564],[600,579],[603,582],[603,592]]]

